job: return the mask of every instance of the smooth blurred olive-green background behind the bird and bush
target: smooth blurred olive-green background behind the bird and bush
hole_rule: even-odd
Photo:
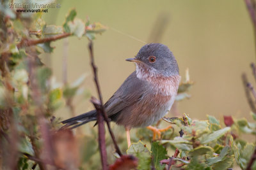
[[[198,119],[205,119],[207,114],[221,120],[223,115],[250,118],[241,73],[246,72],[255,85],[250,70],[250,62],[255,62],[255,46],[253,27],[243,0],[56,3],[60,3],[61,8],[50,9],[44,16],[48,24],[62,25],[68,10],[74,7],[79,18],[86,20],[90,17],[91,22],[101,22],[109,27],[94,41],[105,102],[135,69],[134,64],[125,59],[136,55],[144,44],[130,36],[151,42],[150,37],[157,27],[164,27],[161,20],[165,20],[166,27],[159,34],[159,42],[169,46],[174,53],[182,80],[188,67],[191,80],[195,81],[190,90],[191,98],[178,104],[179,113],[188,113],[189,117]],[[84,88],[90,95],[97,96],[87,49],[88,39],[68,38],[67,52],[64,42],[52,43],[56,49],[51,55],[41,56],[42,59],[52,67],[57,80],[62,81],[63,54],[67,55],[68,82],[86,73]],[[93,109],[90,98],[84,95],[77,97],[74,105],[77,115]],[[68,108],[62,108],[57,116],[69,118],[71,115]]]

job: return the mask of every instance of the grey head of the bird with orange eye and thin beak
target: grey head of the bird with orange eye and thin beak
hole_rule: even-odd
[[[168,46],[150,43],[142,46],[135,58],[126,59],[136,63],[136,69],[144,67],[150,73],[163,76],[179,75],[179,66]],[[138,71],[138,70],[137,70]]]

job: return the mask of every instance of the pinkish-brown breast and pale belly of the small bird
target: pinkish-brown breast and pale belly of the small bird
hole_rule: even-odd
[[[126,127],[143,127],[154,124],[164,117],[172,107],[180,76],[158,76],[147,78],[150,83],[145,94],[132,106],[131,114],[125,120]]]

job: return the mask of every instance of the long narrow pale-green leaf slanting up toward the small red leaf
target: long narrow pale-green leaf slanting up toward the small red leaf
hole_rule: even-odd
[[[230,131],[230,127],[225,127],[223,129],[220,129],[219,131],[214,131],[211,134],[205,134],[204,136],[202,136],[202,139],[200,140],[200,142],[202,144],[210,143],[211,141],[219,139],[221,136],[226,134],[228,131]]]

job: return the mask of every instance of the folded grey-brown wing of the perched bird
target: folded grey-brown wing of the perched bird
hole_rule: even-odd
[[[131,106],[140,100],[145,92],[146,83],[146,81],[137,78],[134,71],[104,104],[108,117],[120,113],[127,106]]]

